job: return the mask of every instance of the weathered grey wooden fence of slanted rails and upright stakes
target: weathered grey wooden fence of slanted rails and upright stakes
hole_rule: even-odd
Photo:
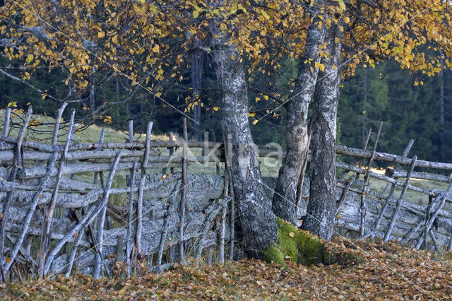
[[[11,111],[7,111],[0,135],[0,266],[5,274],[69,276],[77,271],[98,278],[109,276],[117,261],[124,262],[130,274],[143,260],[161,271],[186,261],[187,254],[223,262],[239,252],[234,249],[234,220],[239,213],[234,210],[233,196],[225,193],[221,145],[186,142],[185,123],[185,139],[177,141],[151,141],[149,123],[145,141],[133,141],[130,124],[129,142],[104,143],[101,134],[98,143],[74,143],[74,111],[66,143],[57,145],[64,107],[57,113],[50,144],[24,141],[31,108],[18,137],[9,137]],[[439,252],[451,249],[452,185],[451,178],[441,172],[452,170],[452,164],[408,158],[412,141],[402,155],[376,152],[378,136],[372,151],[336,147],[338,155],[359,159],[357,165],[337,163],[338,170],[347,172],[337,184],[337,232],[358,239],[398,239]],[[201,155],[188,155],[187,150],[196,148],[202,151],[194,153]],[[278,157],[274,147],[259,146],[258,150],[261,157]],[[188,174],[187,165],[195,161],[216,165],[217,175]],[[372,172],[374,161],[395,167],[384,175]],[[165,172],[156,174],[156,168]],[[120,170],[127,174],[126,181],[113,187]],[[83,180],[74,175],[83,175]],[[371,178],[387,182],[385,191],[372,191]],[[412,184],[412,178],[449,186],[425,189]],[[274,187],[275,179],[265,178],[264,183]],[[300,218],[306,214],[308,186],[305,181]],[[402,187],[400,195],[396,195],[397,187]],[[429,202],[424,206],[410,203],[405,198],[409,189],[428,196]],[[272,189],[266,191],[272,197]],[[114,204],[114,196],[121,199],[121,206]]]

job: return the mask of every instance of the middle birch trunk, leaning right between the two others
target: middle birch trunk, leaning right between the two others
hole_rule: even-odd
[[[312,9],[320,11],[323,1],[318,1]],[[273,212],[287,220],[297,224],[296,200],[299,176],[302,165],[307,160],[308,153],[308,108],[316,86],[318,69],[314,63],[320,61],[319,47],[323,45],[325,29],[319,28],[319,17],[314,17],[307,33],[307,44],[304,57],[300,59],[299,73],[294,90],[294,98],[289,100],[286,107],[287,122],[285,126],[285,138],[287,143],[287,155],[280,168],[278,181],[273,194]]]

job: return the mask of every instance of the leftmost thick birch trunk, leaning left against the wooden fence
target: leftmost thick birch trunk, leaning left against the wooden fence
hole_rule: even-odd
[[[239,208],[239,223],[249,256],[278,240],[275,215],[263,191],[258,151],[248,121],[246,78],[239,54],[218,26],[212,25],[213,59],[216,64],[220,110],[230,158],[234,196]],[[235,58],[232,59],[232,58]]]

